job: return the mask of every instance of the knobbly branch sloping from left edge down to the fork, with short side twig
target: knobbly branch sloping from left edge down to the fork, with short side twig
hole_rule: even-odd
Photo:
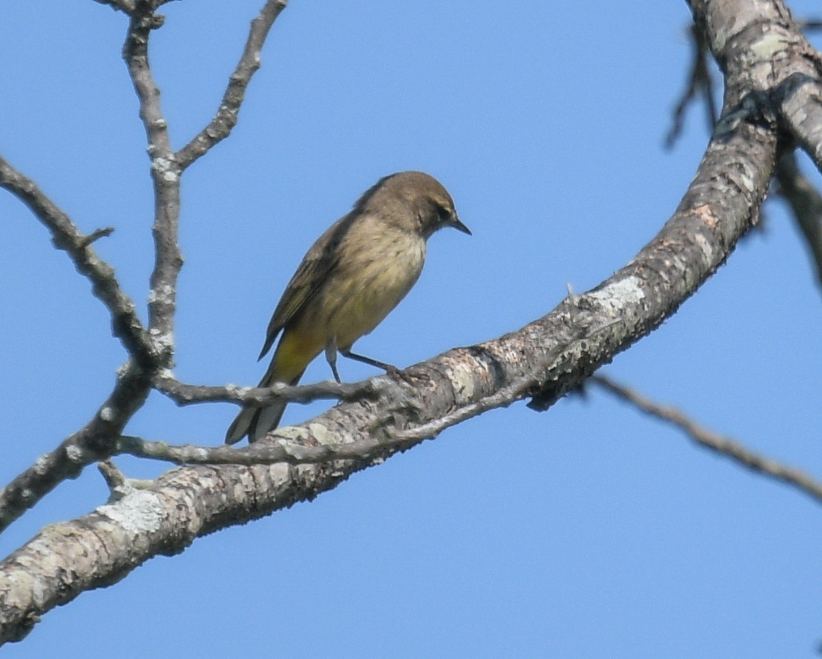
[[[122,292],[114,269],[101,260],[90,247],[91,242],[109,230],[85,236],[72,220],[48,198],[30,178],[18,172],[0,157],[0,187],[4,187],[29,207],[35,217],[52,234],[54,247],[65,251],[77,271],[89,279],[92,292],[111,314],[112,333],[128,353],[148,367],[155,362],[151,343],[136,314],[134,302]],[[109,233],[111,233],[109,231]]]

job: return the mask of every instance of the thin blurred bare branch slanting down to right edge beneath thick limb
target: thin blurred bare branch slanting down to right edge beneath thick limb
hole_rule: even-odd
[[[705,449],[710,449],[715,453],[722,454],[726,458],[730,458],[741,464],[743,467],[749,468],[764,476],[769,476],[787,483],[787,485],[794,486],[803,494],[815,499],[817,503],[822,503],[822,483],[816,482],[799,469],[786,467],[775,460],[756,454],[746,449],[739,442],[709,431],[704,426],[700,426],[676,408],[658,405],[643,395],[638,394],[634,389],[618,385],[606,376],[592,376],[591,380],[606,391],[617,396],[617,398],[640,408],[640,410],[646,414],[677,426],[677,428],[684,431],[691,440]]]

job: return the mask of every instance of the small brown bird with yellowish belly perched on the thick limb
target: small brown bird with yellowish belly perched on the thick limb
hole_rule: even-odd
[[[303,256],[268,325],[260,359],[277,335],[261,387],[296,385],[322,351],[338,382],[337,353],[389,370],[351,352],[354,341],[371,332],[417,282],[426,241],[443,227],[471,232],[457,217],[454,201],[436,178],[400,172],[381,178]],[[279,424],[286,403],[242,408],[225,435],[234,444],[253,442]]]

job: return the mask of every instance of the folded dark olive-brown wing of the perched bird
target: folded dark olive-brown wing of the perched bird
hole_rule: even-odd
[[[345,215],[332,224],[326,233],[316,239],[302,257],[297,272],[285,287],[283,297],[279,299],[274,315],[266,330],[266,343],[263,344],[259,359],[262,359],[274,345],[277,334],[309,304],[316,293],[332,274],[339,262],[339,245],[343,242],[352,222],[358,214]]]

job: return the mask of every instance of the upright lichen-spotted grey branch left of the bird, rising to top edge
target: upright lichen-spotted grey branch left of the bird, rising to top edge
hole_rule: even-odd
[[[164,366],[173,360],[174,312],[177,278],[182,268],[178,244],[180,217],[180,167],[171,149],[169,131],[159,104],[159,89],[151,75],[148,44],[151,30],[162,25],[151,2],[140,0],[129,21],[122,55],[140,101],[140,118],[148,138],[151,177],[155,192],[155,267],[149,293],[149,331]]]

